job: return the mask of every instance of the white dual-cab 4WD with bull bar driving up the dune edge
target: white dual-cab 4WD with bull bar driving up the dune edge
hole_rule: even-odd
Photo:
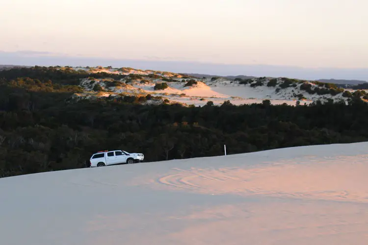
[[[142,162],[142,153],[128,153],[124,150],[104,150],[92,155],[89,160],[90,167],[103,167],[107,165],[132,164]]]

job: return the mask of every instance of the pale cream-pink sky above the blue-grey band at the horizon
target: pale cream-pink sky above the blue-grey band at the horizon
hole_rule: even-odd
[[[1,9],[8,54],[368,68],[367,0],[11,0]]]

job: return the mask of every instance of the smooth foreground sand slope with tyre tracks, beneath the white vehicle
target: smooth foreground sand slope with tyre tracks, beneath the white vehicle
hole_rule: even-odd
[[[368,143],[2,178],[0,196],[4,245],[366,245]]]

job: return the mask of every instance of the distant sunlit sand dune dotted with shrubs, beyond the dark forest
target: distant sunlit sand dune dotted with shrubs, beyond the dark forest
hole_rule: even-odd
[[[83,68],[86,70],[85,68]],[[143,96],[144,94],[153,94],[162,96],[162,100],[168,99],[173,103],[182,103],[184,105],[203,106],[208,101],[212,101],[215,105],[223,104],[225,101],[230,101],[235,105],[251,104],[251,103],[262,103],[263,100],[270,100],[271,104],[289,104],[296,105],[297,100],[301,104],[310,104],[313,101],[321,100],[327,101],[333,99],[334,101],[345,101],[347,97],[342,96],[340,91],[338,94],[325,93],[327,90],[325,87],[320,87],[312,81],[300,81],[309,84],[313,89],[317,88],[320,90],[323,88],[324,94],[312,93],[310,94],[306,90],[301,89],[300,83],[293,83],[293,86],[287,85],[281,86],[284,83],[283,78],[277,78],[275,81],[277,85],[268,86],[270,78],[264,78],[261,85],[256,85],[257,79],[253,79],[250,83],[247,81],[246,84],[240,83],[239,81],[229,80],[228,78],[220,77],[216,80],[211,78],[185,78],[182,79],[182,75],[177,73],[169,72],[155,72],[155,71],[142,71],[135,70],[132,68],[121,68],[121,69],[106,69],[106,68],[93,68],[91,73],[116,73],[116,74],[135,74],[142,75],[143,77],[133,76],[131,78],[122,78],[120,82],[128,82],[129,86],[122,87],[108,87],[104,79],[94,79],[95,83],[99,83],[105,89],[108,89],[112,94],[118,95],[119,93],[126,93]],[[146,76],[155,73],[156,76]],[[170,80],[166,78],[170,77]],[[107,78],[113,80],[112,78]],[[144,81],[142,82],[142,79]],[[184,86],[188,80],[196,80],[198,84],[192,86]],[[80,85],[86,90],[91,91],[94,84],[90,84],[89,79],[83,79]],[[142,83],[141,83],[142,82]],[[166,82],[168,88],[164,90],[154,90],[154,86],[157,83]],[[289,81],[290,82],[290,81]],[[294,82],[294,81],[292,81]],[[291,83],[292,83],[291,82]],[[252,84],[251,84],[252,83]],[[254,85],[254,86],[253,86]],[[335,91],[336,92],[336,91]],[[337,92],[336,92],[337,93]]]

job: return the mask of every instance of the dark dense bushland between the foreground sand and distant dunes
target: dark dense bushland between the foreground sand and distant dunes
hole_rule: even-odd
[[[87,76],[54,68],[0,72],[0,177],[83,168],[105,149],[159,161],[223,155],[224,144],[235,154],[368,140],[368,105],[354,96],[348,105],[295,107],[267,100],[184,107],[140,104],[151,96],[71,99],[81,91],[76,81]]]

